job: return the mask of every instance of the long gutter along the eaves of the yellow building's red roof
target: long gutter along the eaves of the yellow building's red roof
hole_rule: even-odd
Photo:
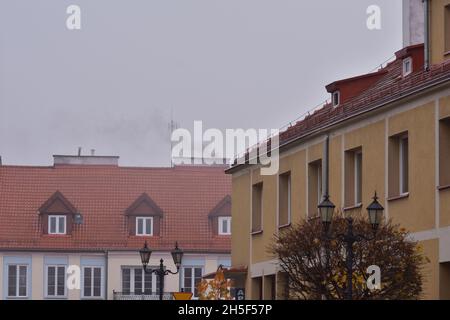
[[[290,148],[291,145],[300,144],[300,143],[302,143],[302,141],[304,141],[304,140],[306,140],[306,139],[308,139],[308,138],[313,138],[313,137],[316,136],[316,135],[323,134],[324,131],[327,131],[327,130],[330,131],[330,130],[332,130],[332,129],[335,129],[335,128],[338,128],[338,127],[340,127],[340,126],[343,126],[343,125],[345,125],[345,123],[348,122],[349,120],[352,120],[352,119],[354,119],[354,118],[357,118],[357,117],[359,117],[359,116],[361,116],[361,115],[364,115],[364,114],[367,114],[367,113],[370,113],[370,112],[373,112],[373,111],[377,111],[378,109],[382,109],[382,108],[388,106],[389,104],[392,104],[392,103],[401,101],[401,100],[403,100],[403,99],[406,99],[406,98],[408,98],[408,97],[410,97],[410,96],[413,96],[413,95],[416,94],[416,93],[420,93],[420,91],[426,91],[426,90],[428,90],[428,89],[433,89],[433,87],[437,87],[437,86],[442,85],[442,84],[445,85],[446,82],[449,82],[449,80],[450,80],[449,76],[448,76],[447,74],[445,74],[444,77],[438,78],[438,79],[435,80],[435,81],[431,81],[431,82],[428,83],[428,84],[424,84],[424,85],[422,85],[422,86],[420,86],[420,87],[418,87],[418,88],[416,88],[416,89],[411,90],[410,92],[407,92],[407,93],[402,94],[402,95],[399,96],[399,97],[392,98],[392,99],[390,99],[390,100],[387,100],[387,101],[378,103],[378,104],[375,105],[374,107],[371,107],[371,108],[366,109],[366,110],[361,110],[360,112],[357,112],[357,113],[355,113],[355,114],[349,115],[348,117],[346,117],[346,118],[344,118],[344,119],[337,120],[337,121],[334,122],[334,123],[331,123],[331,124],[325,124],[324,126],[319,127],[319,128],[317,128],[317,129],[314,129],[314,130],[312,130],[312,131],[310,131],[310,132],[308,132],[308,133],[305,133],[305,134],[302,135],[302,136],[294,137],[294,138],[292,138],[291,140],[286,141],[285,143],[283,143],[282,145],[280,145],[280,146],[278,147],[278,149],[280,150],[280,154],[281,154],[281,152],[282,152],[284,149]],[[424,92],[424,93],[426,93],[426,92]],[[266,153],[266,155],[267,155],[267,153]],[[226,174],[233,174],[233,173],[235,173],[235,172],[237,172],[237,171],[239,171],[239,170],[241,170],[241,169],[243,169],[243,168],[245,168],[245,167],[247,167],[247,166],[249,166],[248,163],[245,163],[245,164],[239,164],[239,165],[236,165],[236,166],[233,166],[233,167],[228,168],[227,170],[225,170],[225,173],[226,173]]]

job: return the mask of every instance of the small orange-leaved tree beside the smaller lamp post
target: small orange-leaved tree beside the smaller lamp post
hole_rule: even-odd
[[[231,300],[231,280],[225,279],[222,267],[217,269],[214,279],[203,279],[198,284],[198,295],[200,300]]]

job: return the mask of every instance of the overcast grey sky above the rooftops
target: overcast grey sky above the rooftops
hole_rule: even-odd
[[[401,0],[0,0],[0,156],[169,165],[171,108],[185,128],[281,127],[391,57],[401,25]]]

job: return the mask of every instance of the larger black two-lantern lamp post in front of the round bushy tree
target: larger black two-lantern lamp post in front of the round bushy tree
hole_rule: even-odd
[[[347,230],[345,233],[336,234],[335,236],[329,235],[329,229],[331,221],[333,218],[333,212],[335,205],[330,201],[330,196],[328,193],[324,195],[324,200],[319,204],[319,213],[322,219],[322,224],[324,227],[324,234],[327,239],[330,240],[341,240],[346,245],[346,259],[345,266],[347,269],[347,284],[345,287],[344,297],[346,300],[352,300],[353,298],[353,244],[360,241],[371,241],[375,238],[378,226],[380,225],[381,218],[383,216],[383,206],[378,202],[377,193],[373,197],[373,202],[367,207],[367,213],[369,215],[369,222],[372,225],[372,230],[374,235],[372,237],[367,237],[363,234],[355,234],[353,232],[353,219],[348,217]]]

